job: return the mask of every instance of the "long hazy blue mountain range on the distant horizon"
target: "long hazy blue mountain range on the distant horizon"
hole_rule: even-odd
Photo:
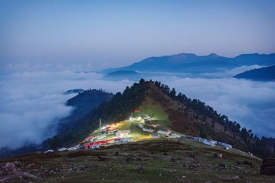
[[[103,73],[114,71],[168,72],[168,73],[211,73],[233,69],[243,65],[274,65],[275,53],[242,54],[235,58],[226,58],[211,53],[208,56],[197,56],[193,53],[179,53],[172,56],[150,57],[129,66],[106,69]]]

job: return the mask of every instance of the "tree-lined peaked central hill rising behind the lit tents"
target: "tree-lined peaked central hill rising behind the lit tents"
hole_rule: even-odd
[[[126,87],[123,93],[115,94],[109,102],[101,103],[98,108],[88,112],[85,118],[78,120],[77,123],[81,125],[74,127],[74,132],[65,134],[68,138],[55,136],[50,140],[54,144],[52,147],[85,143],[84,140],[89,136],[100,136],[100,119],[102,125],[115,122],[120,130],[131,130],[129,137],[133,141],[148,138],[152,133],[142,132],[137,127],[139,121],[129,121],[136,109],[142,111],[137,113],[142,114],[142,118],[151,118],[144,125],[155,126],[153,134],[157,130],[170,130],[179,136],[197,136],[228,143],[236,149],[250,151],[260,157],[274,156],[273,138],[259,139],[252,130],[230,121],[198,99],[188,99],[181,93],[176,95],[175,89],[170,90],[160,82],[144,80],[133,84],[131,88]],[[115,135],[103,136],[102,141],[113,137]]]

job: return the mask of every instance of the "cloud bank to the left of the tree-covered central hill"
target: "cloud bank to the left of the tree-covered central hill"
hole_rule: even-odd
[[[0,148],[12,149],[26,143],[41,143],[55,134],[58,119],[72,108],[65,101],[74,95],[62,93],[72,88],[104,88],[116,93],[132,84],[102,81],[97,73],[24,72],[2,75],[0,80]]]

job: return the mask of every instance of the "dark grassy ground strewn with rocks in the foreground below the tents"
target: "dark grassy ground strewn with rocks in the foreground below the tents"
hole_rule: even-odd
[[[29,154],[0,161],[0,182],[275,182],[261,159],[188,140]]]

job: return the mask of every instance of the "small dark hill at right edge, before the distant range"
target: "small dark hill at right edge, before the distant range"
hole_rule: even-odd
[[[275,80],[275,65],[267,66],[259,69],[245,71],[234,76],[239,79],[256,80],[256,81],[274,81]]]

